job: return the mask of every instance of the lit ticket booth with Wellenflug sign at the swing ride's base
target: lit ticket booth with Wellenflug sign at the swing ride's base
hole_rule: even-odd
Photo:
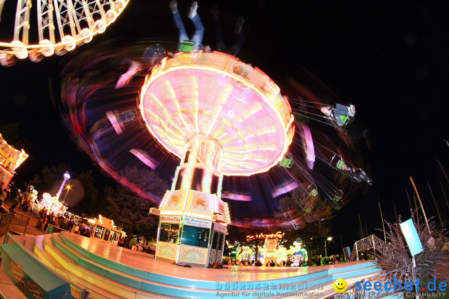
[[[169,195],[174,192],[169,192]],[[221,263],[228,219],[225,202],[216,194],[201,194],[194,190],[180,192],[178,195],[181,195],[179,202],[166,196],[161,210],[151,210],[153,214],[161,211],[172,213],[160,214],[155,258],[167,262],[183,262],[192,267],[209,267],[216,262]],[[183,203],[183,200],[186,202]],[[215,201],[217,205],[213,204]],[[169,204],[173,202],[175,204]],[[207,213],[193,213],[193,209],[198,209],[200,203],[200,209],[208,211]],[[187,208],[185,212],[179,213],[173,210],[175,206]],[[175,213],[181,215],[173,215]]]

